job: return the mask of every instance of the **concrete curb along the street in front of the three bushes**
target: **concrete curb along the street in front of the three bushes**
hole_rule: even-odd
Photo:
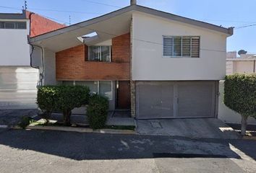
[[[21,129],[14,127],[14,129]],[[114,129],[99,129],[93,130],[91,128],[76,128],[76,127],[61,127],[61,126],[41,126],[41,125],[28,125],[26,129],[30,130],[59,130],[68,132],[79,132],[79,133],[108,133],[108,134],[126,134],[135,135],[137,134],[134,130],[114,130]]]

